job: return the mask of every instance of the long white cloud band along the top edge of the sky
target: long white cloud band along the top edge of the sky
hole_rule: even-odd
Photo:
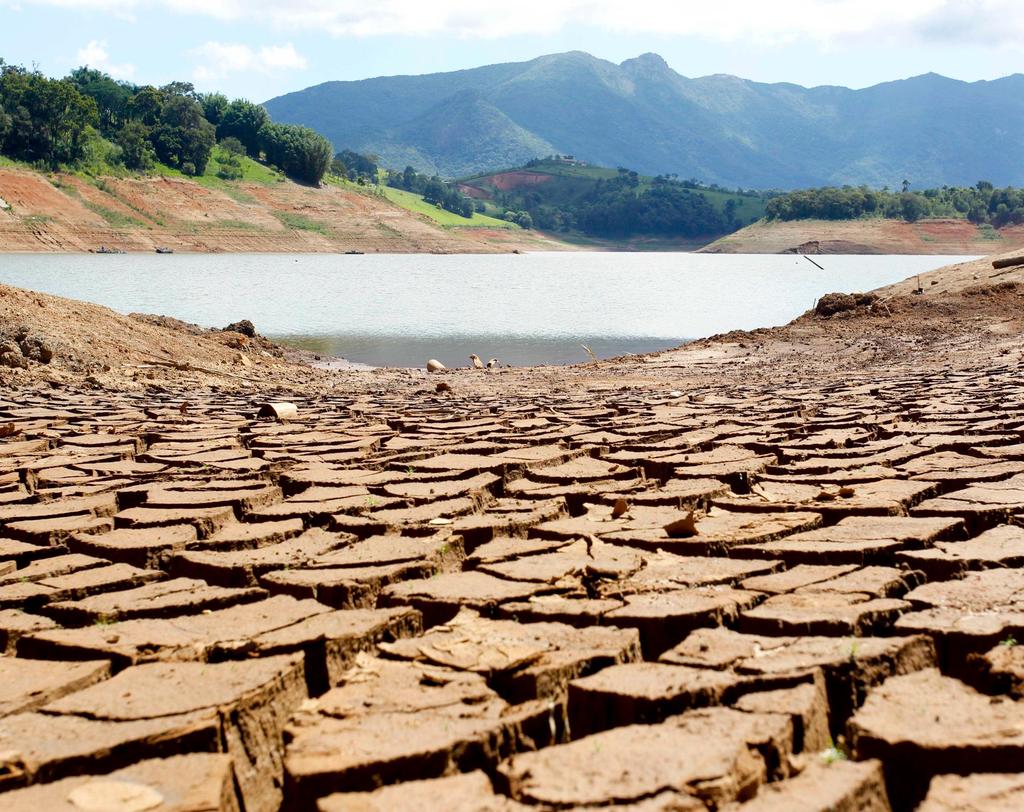
[[[0,0],[2,2],[3,0]],[[20,0],[120,13],[164,8],[273,30],[335,36],[449,35],[499,38],[573,26],[684,35],[713,41],[821,45],[851,39],[956,41],[985,45],[1024,37],[1020,0]]]

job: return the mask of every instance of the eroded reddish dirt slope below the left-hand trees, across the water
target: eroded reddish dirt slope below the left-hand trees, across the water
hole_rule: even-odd
[[[563,246],[531,231],[441,228],[371,194],[292,182],[104,178],[0,169],[0,252],[492,253]],[[287,225],[286,223],[291,223]]]

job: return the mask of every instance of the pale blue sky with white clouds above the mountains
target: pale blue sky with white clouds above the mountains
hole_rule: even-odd
[[[0,57],[263,101],[332,79],[586,50],[865,87],[1024,72],[1024,0],[0,0]]]

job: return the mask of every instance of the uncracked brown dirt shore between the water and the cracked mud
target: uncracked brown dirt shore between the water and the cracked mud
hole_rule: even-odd
[[[687,375],[702,380],[706,374],[717,375],[716,370],[727,368],[733,369],[730,375],[735,375],[736,365],[770,372],[773,365],[782,365],[779,369],[793,367],[798,358],[807,366],[805,372],[813,369],[830,377],[833,367],[853,350],[852,359],[870,359],[856,348],[865,342],[870,344],[874,336],[881,342],[879,346],[885,348],[876,352],[896,357],[892,353],[902,348],[907,357],[922,359],[921,346],[942,347],[935,342],[961,330],[957,325],[964,325],[964,335],[979,345],[999,340],[1002,333],[1013,334],[1016,328],[1002,327],[992,335],[979,330],[980,324],[1009,325],[1019,319],[1015,286],[1024,284],[1024,269],[995,273],[997,279],[992,276],[988,260],[968,261],[885,286],[880,289],[881,303],[863,312],[839,313],[827,319],[805,313],[783,327],[734,330],[658,352],[589,362],[581,359],[566,366],[503,367],[486,375],[465,369],[466,362],[462,361],[451,365],[452,369],[436,380],[454,376],[460,385],[472,383],[474,387],[487,387],[499,380],[508,382],[521,375],[578,383],[596,383],[606,380],[607,375],[613,380],[632,380],[638,375],[645,378],[667,359],[672,359],[673,365],[683,364]],[[987,282],[990,276],[991,283]],[[913,296],[919,280],[925,295]],[[986,285],[993,293],[972,293],[974,289],[987,291]],[[433,386],[429,382],[435,380],[423,370],[429,356],[419,358],[415,365],[391,368],[366,365],[356,369],[349,359],[334,364],[342,369],[314,369],[309,364],[315,358],[308,352],[295,354],[258,334],[247,336],[237,332],[241,328],[229,327],[232,329],[206,330],[176,318],[123,315],[99,305],[0,285],[0,332],[37,336],[53,354],[49,364],[30,360],[25,362],[25,369],[0,366],[0,383],[17,386],[49,382],[63,387],[85,381],[91,386],[126,391],[155,385],[252,387],[254,391],[298,386],[315,391],[348,385],[345,382],[355,380],[351,376],[388,386],[415,382]],[[314,354],[331,362],[329,354]],[[952,362],[962,354],[952,346],[943,348],[937,357]]]

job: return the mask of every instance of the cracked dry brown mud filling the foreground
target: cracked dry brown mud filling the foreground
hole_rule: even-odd
[[[1018,355],[0,393],[0,808],[1018,810]]]

